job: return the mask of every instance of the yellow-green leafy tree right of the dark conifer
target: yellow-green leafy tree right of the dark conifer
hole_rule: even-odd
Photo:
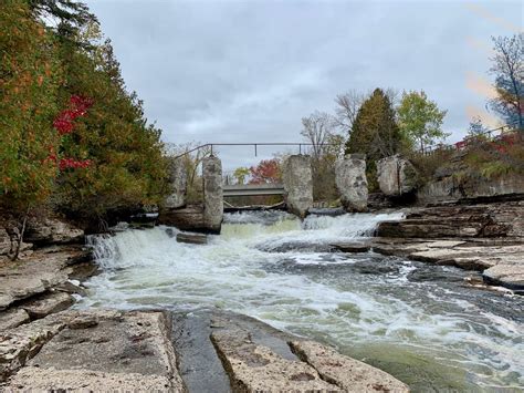
[[[437,103],[429,100],[423,91],[404,92],[398,107],[398,121],[401,133],[423,152],[437,139],[449,134],[442,131],[447,111],[440,111]]]

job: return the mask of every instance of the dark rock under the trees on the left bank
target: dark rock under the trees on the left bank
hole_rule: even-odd
[[[83,242],[84,231],[56,218],[30,217],[23,238],[39,246]]]

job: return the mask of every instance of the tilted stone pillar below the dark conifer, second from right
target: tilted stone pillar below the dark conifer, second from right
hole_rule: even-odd
[[[335,182],[348,211],[367,210],[366,155],[349,154],[335,164]]]

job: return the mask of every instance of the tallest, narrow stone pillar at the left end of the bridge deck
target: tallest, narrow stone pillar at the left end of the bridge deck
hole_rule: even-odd
[[[202,159],[203,225],[212,234],[220,234],[223,218],[222,162],[216,156]]]

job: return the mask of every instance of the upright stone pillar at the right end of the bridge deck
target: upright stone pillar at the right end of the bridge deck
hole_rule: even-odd
[[[287,210],[304,218],[313,206],[313,176],[311,157],[292,155],[283,168],[285,203]]]

